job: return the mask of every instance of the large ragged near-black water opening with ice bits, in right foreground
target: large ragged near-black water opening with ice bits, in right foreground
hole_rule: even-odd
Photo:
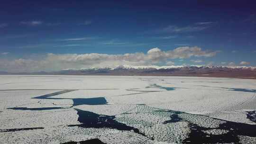
[[[238,135],[256,137],[256,125],[249,125],[244,123],[236,123],[231,121],[225,121],[225,123],[220,124],[219,127],[209,128],[198,126],[188,120],[184,120],[182,117],[179,117],[179,114],[184,112],[180,111],[172,111],[172,110],[158,110],[159,112],[170,112],[171,119],[165,121],[163,124],[167,123],[175,123],[180,121],[186,121],[189,123],[190,133],[189,136],[183,140],[183,144],[226,144],[226,143],[234,143],[239,144]],[[197,117],[197,115],[192,115],[192,117]],[[206,116],[205,116],[206,117]],[[212,118],[212,117],[210,117]],[[220,120],[218,118],[212,118],[216,120]],[[227,133],[221,135],[212,135],[204,133],[205,130],[225,130]]]

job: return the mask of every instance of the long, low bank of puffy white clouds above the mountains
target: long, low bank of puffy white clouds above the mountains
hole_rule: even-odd
[[[0,70],[10,72],[59,71],[62,69],[80,69],[88,67],[116,67],[117,65],[152,65],[170,59],[186,59],[190,57],[212,57],[218,51],[204,51],[200,47],[178,47],[174,50],[162,51],[152,48],[145,53],[131,54],[46,54],[44,58],[0,60]],[[42,56],[41,56],[42,57]],[[172,62],[169,62],[172,64]]]

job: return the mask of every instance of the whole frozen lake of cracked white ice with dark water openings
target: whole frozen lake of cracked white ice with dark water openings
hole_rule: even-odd
[[[0,144],[256,144],[256,80],[0,75]]]

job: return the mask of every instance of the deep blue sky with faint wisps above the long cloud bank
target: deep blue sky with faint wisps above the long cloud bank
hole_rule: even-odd
[[[167,52],[195,46],[216,54],[184,58],[165,54],[156,62],[143,59],[147,62],[133,64],[165,65],[170,61],[174,65],[256,66],[255,8],[254,0],[3,0],[0,71],[38,65],[49,60],[49,54],[70,59],[66,54],[146,54],[155,47]],[[56,61],[63,66],[52,69],[45,64],[27,69],[54,71],[69,67],[66,63],[70,62]],[[80,61],[75,68],[95,65]]]

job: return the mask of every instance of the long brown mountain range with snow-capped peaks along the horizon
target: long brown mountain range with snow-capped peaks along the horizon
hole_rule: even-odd
[[[24,72],[0,74],[34,74],[34,75],[128,75],[128,76],[197,76],[256,79],[255,67],[223,66],[119,66],[111,68],[88,68],[80,70],[62,70],[58,72]]]

